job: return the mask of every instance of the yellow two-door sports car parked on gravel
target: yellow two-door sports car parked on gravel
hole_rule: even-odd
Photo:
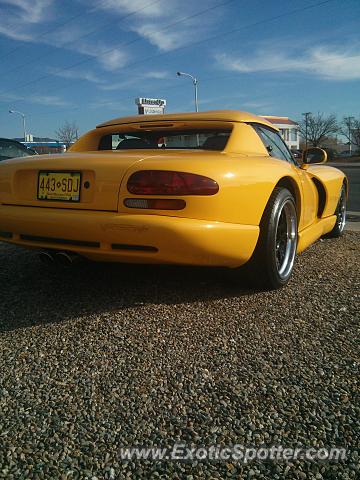
[[[246,112],[116,118],[68,153],[0,163],[0,239],[48,262],[247,264],[277,288],[344,229],[348,182],[325,161],[311,148],[298,163]]]

